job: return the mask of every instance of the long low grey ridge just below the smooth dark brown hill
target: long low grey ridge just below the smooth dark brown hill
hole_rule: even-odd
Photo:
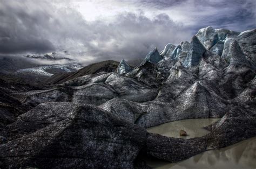
[[[155,86],[158,83],[153,83],[153,80],[156,81],[153,79],[156,75],[152,75],[152,80],[150,80],[149,76],[151,72],[149,68],[147,72],[143,72],[143,70],[145,69],[142,69],[137,74],[139,81],[121,76],[117,73],[87,75],[67,81],[65,83],[67,86],[65,87],[30,91],[23,93],[25,95],[23,104],[31,107],[44,102],[75,102],[100,105],[114,97],[136,102],[150,101],[157,96],[158,90],[155,88],[151,89],[149,86],[145,86],[144,83]],[[154,70],[152,69],[152,71]],[[131,88],[131,86],[133,87]]]

